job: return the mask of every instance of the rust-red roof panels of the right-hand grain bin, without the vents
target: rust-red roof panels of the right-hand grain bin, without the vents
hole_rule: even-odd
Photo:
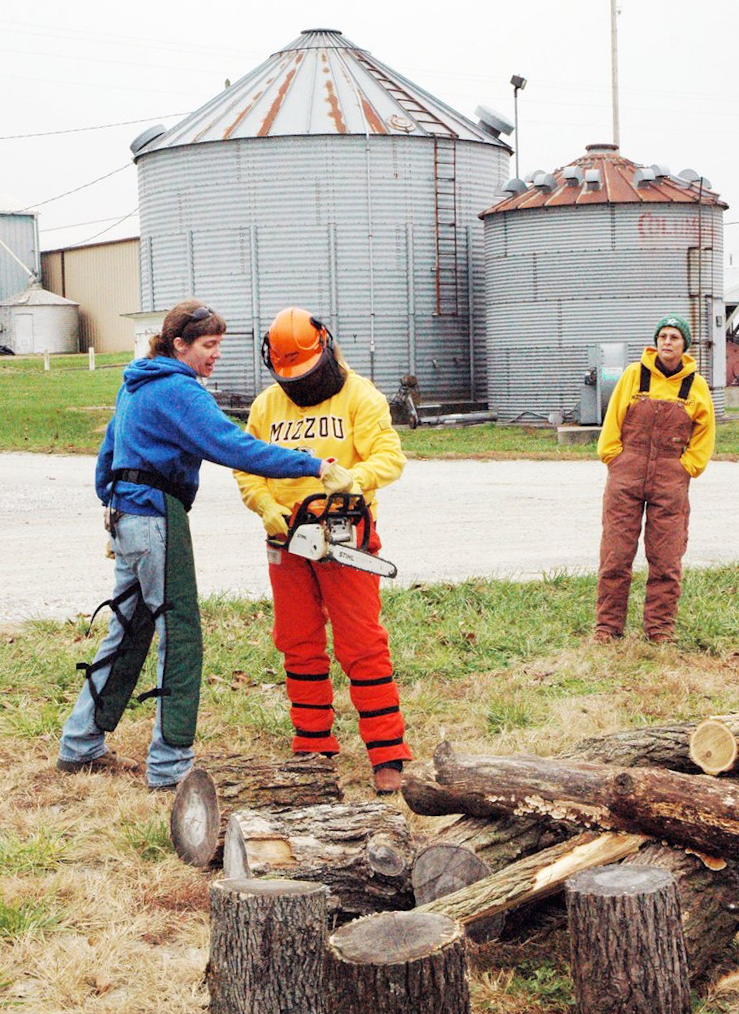
[[[552,173],[558,184],[555,190],[544,191],[530,186],[522,193],[494,204],[479,217],[575,204],[697,204],[700,201],[712,207],[727,207],[715,191],[704,188],[700,192],[697,184],[675,176],[657,175],[654,179],[640,183],[637,173],[644,166],[623,158],[612,144],[588,145],[586,154],[571,164],[583,170],[582,183],[569,185],[563,166]],[[585,179],[587,169],[598,171],[598,186],[594,187]]]

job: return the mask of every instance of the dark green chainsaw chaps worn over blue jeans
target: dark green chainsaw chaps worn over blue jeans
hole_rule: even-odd
[[[193,540],[181,503],[164,494],[166,551],[164,614],[166,651],[161,690],[161,730],[169,746],[192,746],[198,724],[203,674],[203,635],[198,608]],[[125,627],[110,671],[95,696],[95,725],[113,732],[134,693],[154,635],[154,617],[139,590],[134,613]],[[150,696],[149,694],[145,695]]]

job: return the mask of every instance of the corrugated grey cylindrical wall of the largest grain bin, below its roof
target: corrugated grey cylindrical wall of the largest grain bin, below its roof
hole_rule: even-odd
[[[192,234],[195,291],[199,296],[213,293],[230,334],[234,328],[249,330],[254,300],[257,334],[283,306],[306,305],[332,321],[351,364],[367,375],[373,372],[377,385],[392,394],[409,369],[411,223],[422,392],[427,399],[469,396],[466,230],[472,231],[472,258],[482,278],[483,223],[476,216],[507,176],[508,155],[492,145],[457,145],[462,312],[456,318],[435,316],[433,159],[432,139],[357,136],[256,138],[144,155],[139,161],[144,308],[166,308],[175,296],[187,294],[186,251]],[[246,236],[255,242],[255,284],[248,277]],[[484,383],[482,290],[474,329],[476,375]],[[223,353],[222,388],[253,394],[243,348],[224,343]],[[262,371],[255,386],[269,379]]]

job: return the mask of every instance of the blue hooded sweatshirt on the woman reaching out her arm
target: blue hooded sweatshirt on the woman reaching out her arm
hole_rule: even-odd
[[[95,490],[103,504],[110,499],[115,468],[158,472],[195,499],[204,458],[270,479],[317,477],[320,467],[316,457],[240,430],[195,370],[179,360],[157,356],[129,363],[97,455]],[[163,515],[164,494],[119,482],[110,506],[130,514]]]

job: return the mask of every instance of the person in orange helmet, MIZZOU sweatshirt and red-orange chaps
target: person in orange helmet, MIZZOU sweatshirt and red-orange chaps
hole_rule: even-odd
[[[262,355],[276,382],[254,400],[247,432],[282,447],[336,458],[341,470],[334,491],[364,496],[372,518],[369,549],[377,552],[375,491],[394,482],[405,463],[387,400],[347,366],[327,328],[307,310],[290,307],[278,313]],[[260,515],[272,539],[287,535],[287,518],[296,504],[321,492],[320,484],[310,479],[234,475],[244,504]],[[274,546],[267,554],[275,600],[273,633],[284,655],[295,730],[293,751],[339,752],[326,653],[330,621],[334,651],[350,680],[375,790],[396,792],[411,751],[403,741],[387,631],[379,619],[379,578]]]

